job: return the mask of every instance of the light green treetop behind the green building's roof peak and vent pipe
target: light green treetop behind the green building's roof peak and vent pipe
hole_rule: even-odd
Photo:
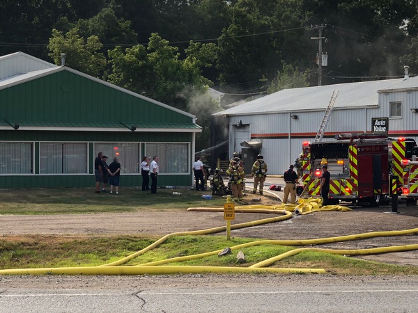
[[[102,48],[99,38],[92,35],[84,40],[78,29],[72,29],[63,35],[56,29],[52,30],[49,40],[49,56],[56,65],[61,64],[61,53],[66,54],[65,65],[94,77],[100,77],[106,66],[106,58],[98,51]]]

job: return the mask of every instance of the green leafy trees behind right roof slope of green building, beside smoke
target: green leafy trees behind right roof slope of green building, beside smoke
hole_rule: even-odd
[[[210,114],[219,107],[207,95],[211,81],[201,73],[214,63],[216,46],[190,42],[185,52],[187,57],[181,60],[178,48],[157,33],[151,35],[148,47],[136,45],[125,51],[116,47],[109,51],[109,82],[196,115],[203,127],[197,146],[205,147]]]

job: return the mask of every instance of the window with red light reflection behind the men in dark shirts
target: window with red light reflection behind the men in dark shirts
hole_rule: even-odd
[[[121,173],[134,174],[139,172],[139,143],[96,143],[94,145],[95,158],[101,151],[108,157],[107,165],[118,157],[121,163]]]

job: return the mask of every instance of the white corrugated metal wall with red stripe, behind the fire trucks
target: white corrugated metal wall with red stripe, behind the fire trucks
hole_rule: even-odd
[[[418,108],[418,92],[405,91],[380,94],[379,107],[333,110],[325,131],[325,135],[328,133],[331,137],[324,137],[323,140],[332,140],[335,133],[371,131],[371,118],[389,117],[389,102],[396,101],[402,102],[402,118],[390,118],[389,131],[417,130],[418,113],[412,113],[410,109]],[[237,125],[240,122],[249,124],[251,138],[262,142],[261,153],[268,163],[268,172],[270,175],[282,175],[302,152],[302,142],[314,141],[324,113],[325,110],[231,116],[229,152],[232,154],[236,149],[234,145]],[[291,114],[297,115],[297,119],[292,119]],[[418,140],[416,136],[408,137]]]

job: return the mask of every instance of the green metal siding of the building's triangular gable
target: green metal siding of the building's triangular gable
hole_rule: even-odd
[[[12,122],[192,123],[192,118],[87,79],[61,71],[0,92]]]

